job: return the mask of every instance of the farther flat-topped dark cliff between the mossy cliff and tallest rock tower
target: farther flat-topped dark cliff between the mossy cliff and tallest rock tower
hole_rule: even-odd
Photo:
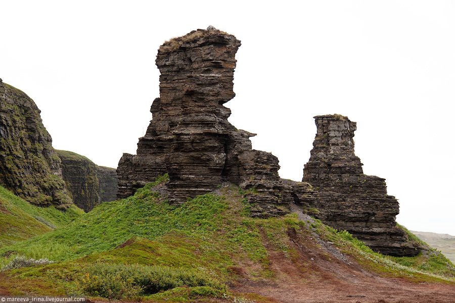
[[[72,151],[57,150],[57,154],[62,160],[63,180],[78,208],[89,212],[103,202],[116,199],[115,169],[99,167]]]

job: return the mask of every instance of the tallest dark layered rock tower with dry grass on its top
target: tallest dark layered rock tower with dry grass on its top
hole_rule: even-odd
[[[229,181],[256,188],[248,195],[255,202],[254,216],[287,212],[278,159],[252,150],[249,137],[255,134],[231,125],[231,110],[223,106],[235,96],[239,46],[235,36],[218,30],[192,31],[161,45],[156,59],[160,97],[152,104],[152,121],[139,139],[137,155],[124,154],[119,161],[118,197],[168,173],[171,203]]]

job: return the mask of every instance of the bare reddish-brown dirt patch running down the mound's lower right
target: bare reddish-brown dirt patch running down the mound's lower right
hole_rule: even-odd
[[[280,302],[365,302],[365,303],[454,303],[455,285],[418,284],[404,278],[386,278],[363,269],[357,262],[335,252],[317,239],[288,235],[298,257],[288,261],[283,252],[267,247],[271,269],[278,273],[269,281],[239,281],[233,290],[257,293]],[[316,241],[314,241],[316,240]]]

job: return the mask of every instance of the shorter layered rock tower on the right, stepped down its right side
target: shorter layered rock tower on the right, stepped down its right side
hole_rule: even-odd
[[[316,137],[303,180],[325,224],[347,230],[373,250],[392,256],[415,256],[420,248],[396,227],[398,201],[387,194],[385,179],[363,174],[354,154],[356,123],[341,115],[316,116]]]

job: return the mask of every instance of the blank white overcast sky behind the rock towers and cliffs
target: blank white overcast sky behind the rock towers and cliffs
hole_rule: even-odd
[[[159,96],[157,49],[213,25],[242,40],[230,122],[300,181],[313,116],[357,122],[398,223],[455,235],[452,1],[0,0],[0,78],[26,92],[58,149],[117,167]]]

